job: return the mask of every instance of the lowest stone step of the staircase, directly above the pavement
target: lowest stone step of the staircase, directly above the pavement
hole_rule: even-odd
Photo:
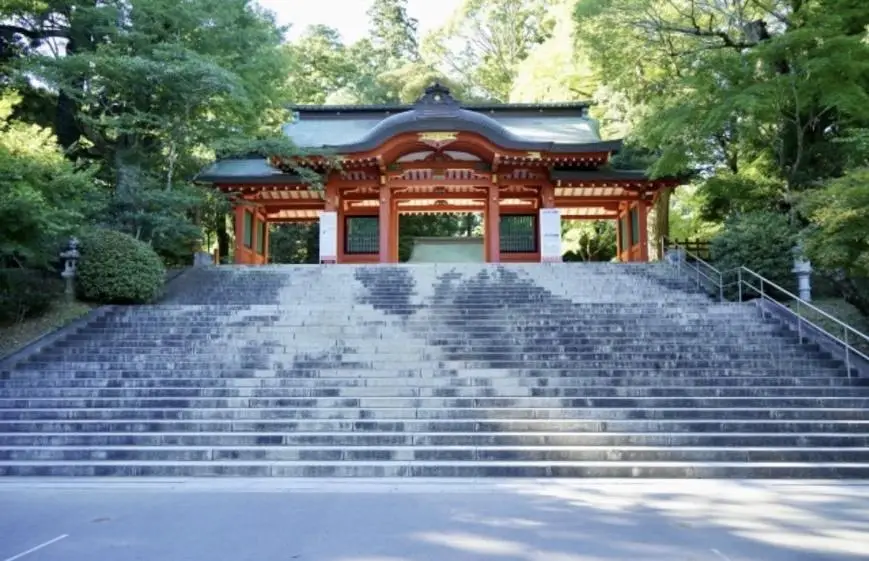
[[[867,478],[836,462],[0,462],[6,476]]]

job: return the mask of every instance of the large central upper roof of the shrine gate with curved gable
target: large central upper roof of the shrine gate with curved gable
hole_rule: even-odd
[[[303,148],[365,152],[397,134],[456,131],[485,136],[506,149],[544,152],[615,152],[602,142],[587,102],[462,105],[434,84],[413,105],[295,106],[284,132]]]

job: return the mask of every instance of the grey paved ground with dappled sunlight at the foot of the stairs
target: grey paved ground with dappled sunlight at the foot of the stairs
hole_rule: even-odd
[[[869,482],[0,480],[0,561],[869,558]]]

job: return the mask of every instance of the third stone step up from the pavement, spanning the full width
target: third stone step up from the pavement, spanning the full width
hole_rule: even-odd
[[[869,446],[869,433],[615,433],[615,432],[36,432],[0,433],[0,447],[11,446]]]

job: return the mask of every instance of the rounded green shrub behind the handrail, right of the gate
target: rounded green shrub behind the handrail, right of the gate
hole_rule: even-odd
[[[721,232],[712,238],[709,249],[715,266],[720,270],[730,271],[744,266],[795,292],[796,276],[792,269],[796,244],[797,230],[790,225],[787,216],[752,212],[727,221]],[[758,285],[748,276],[744,276],[744,280]],[[771,296],[783,297],[774,292]]]

